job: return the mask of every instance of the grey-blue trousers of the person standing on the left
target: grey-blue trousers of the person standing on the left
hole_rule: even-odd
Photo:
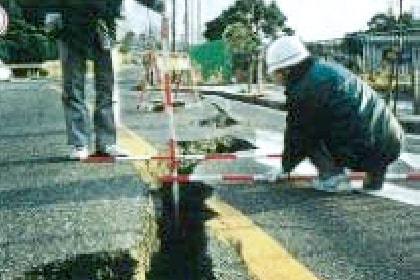
[[[86,61],[89,48],[94,64],[95,107],[93,128],[95,145],[103,149],[116,142],[113,111],[114,72],[111,50],[104,49],[97,35],[85,42],[59,41],[63,72],[63,106],[68,144],[88,146],[92,139],[91,120],[85,94]]]

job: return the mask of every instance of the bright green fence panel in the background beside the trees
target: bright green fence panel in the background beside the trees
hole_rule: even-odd
[[[227,44],[222,41],[211,41],[192,46],[189,55],[201,68],[204,82],[227,82],[232,77],[232,54]]]

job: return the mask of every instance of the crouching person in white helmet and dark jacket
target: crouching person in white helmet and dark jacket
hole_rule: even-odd
[[[366,172],[363,189],[381,189],[403,131],[378,94],[341,65],[311,56],[297,36],[274,41],[266,63],[286,86],[282,172],[309,157],[318,169],[319,190],[351,189],[345,168]]]

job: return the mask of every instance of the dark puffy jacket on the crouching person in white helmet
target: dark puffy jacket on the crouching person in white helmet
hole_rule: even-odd
[[[297,72],[286,85],[285,172],[320,141],[336,164],[354,170],[382,170],[398,157],[403,131],[367,83],[339,64],[313,58]]]

